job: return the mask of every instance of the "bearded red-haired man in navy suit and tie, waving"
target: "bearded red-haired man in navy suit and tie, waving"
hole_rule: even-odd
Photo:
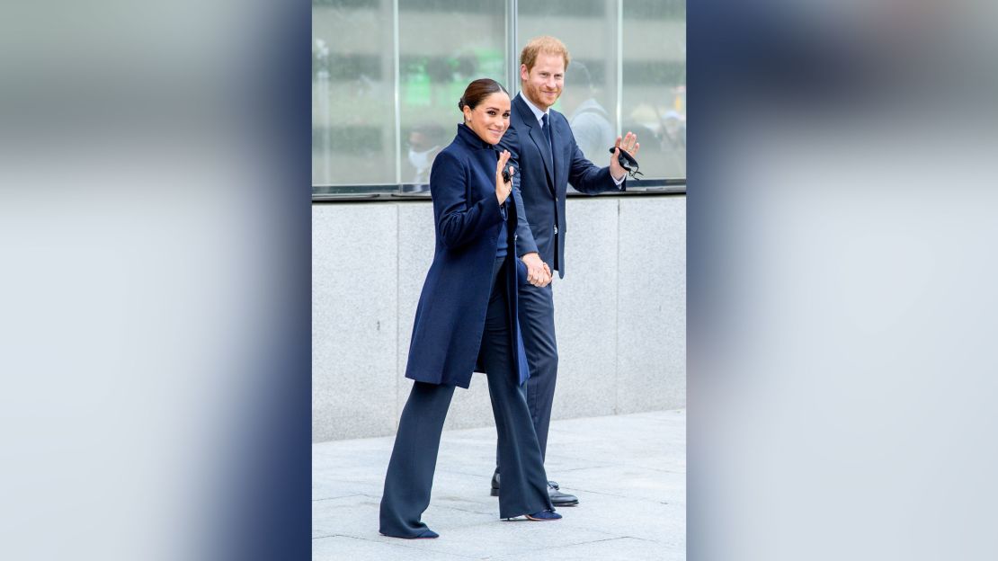
[[[514,194],[522,197],[518,215],[516,252],[527,265],[531,285],[521,288],[520,328],[530,366],[526,382],[527,405],[541,446],[547,451],[551,405],[558,375],[558,346],[555,341],[555,310],[551,272],[565,277],[565,191],[568,184],[576,190],[595,195],[605,191],[623,191],[626,170],[617,161],[620,149],[636,154],[637,137],[628,133],[617,137],[615,152],[604,148],[603,157],[610,166],[599,168],[579,150],[568,120],[551,106],[558,101],[565,83],[569,55],[565,45],[554,37],[532,39],[520,54],[520,93],[513,98],[510,127],[499,142],[508,150],[516,166]],[[596,158],[599,155],[592,154]],[[492,476],[492,494],[497,496],[501,483],[498,465]],[[550,481],[548,492],[555,506],[579,504],[573,495],[559,491]]]

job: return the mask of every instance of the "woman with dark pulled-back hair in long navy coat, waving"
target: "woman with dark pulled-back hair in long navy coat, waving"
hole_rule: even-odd
[[[520,385],[529,375],[516,322],[518,274],[509,152],[510,99],[495,80],[475,80],[458,102],[464,124],[430,172],[436,252],[412,329],[402,410],[381,498],[381,533],[435,538],[420,516],[429,505],[440,432],[454,387],[486,372],[503,466],[499,517],[556,520],[547,475]],[[509,173],[514,169],[509,168]],[[518,267],[519,266],[519,267]]]

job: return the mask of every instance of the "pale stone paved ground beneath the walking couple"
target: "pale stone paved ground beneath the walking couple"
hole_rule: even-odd
[[[555,522],[499,519],[494,428],[445,431],[422,518],[435,540],[377,531],[393,439],[312,445],[313,560],[686,558],[685,409],[553,421],[548,476],[580,501]]]

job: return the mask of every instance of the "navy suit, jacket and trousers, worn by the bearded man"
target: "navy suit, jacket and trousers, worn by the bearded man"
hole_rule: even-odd
[[[510,128],[499,142],[499,148],[510,152],[510,162],[518,172],[513,176],[514,193],[518,192],[522,199],[522,205],[521,200],[517,200],[520,213],[515,236],[516,254],[522,257],[537,252],[552,271],[564,278],[568,184],[589,195],[623,191],[625,185],[617,186],[609,167],[600,168],[586,159],[572,136],[568,120],[554,110],[548,111],[549,145],[540,123],[522,96],[521,93],[513,98]],[[609,153],[605,156],[609,160]],[[544,455],[558,375],[551,284],[543,288],[531,284],[520,288],[519,317],[531,372],[526,384],[527,404]]]

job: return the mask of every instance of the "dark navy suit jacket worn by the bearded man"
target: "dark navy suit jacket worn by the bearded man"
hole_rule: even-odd
[[[610,177],[609,166],[599,168],[587,160],[575,143],[568,120],[553,109],[548,113],[554,145],[552,155],[544,132],[522,95],[513,98],[510,128],[499,142],[499,148],[512,155],[510,162],[518,172],[513,176],[514,195],[522,197],[522,204],[517,199],[522,212],[516,229],[516,254],[537,252],[552,271],[558,271],[564,278],[568,184],[582,193],[596,195],[624,191],[626,182],[618,188]],[[609,161],[609,153],[606,156]]]

